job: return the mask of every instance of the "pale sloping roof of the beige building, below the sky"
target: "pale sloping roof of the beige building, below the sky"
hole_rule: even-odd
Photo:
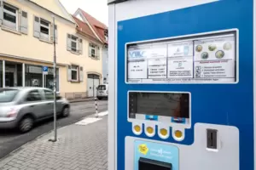
[[[32,3],[37,4],[38,6],[42,8],[46,8],[50,12],[57,14],[58,16],[61,16],[61,18],[65,20],[69,20],[74,23],[73,18],[70,14],[67,13],[66,8],[63,7],[61,2],[59,0],[29,0]]]

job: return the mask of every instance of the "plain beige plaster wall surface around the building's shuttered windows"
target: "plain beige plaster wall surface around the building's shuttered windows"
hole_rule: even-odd
[[[38,38],[33,37],[34,16],[51,21],[52,14],[50,14],[49,11],[27,1],[8,0],[6,2],[27,12],[28,34],[25,35],[0,29],[0,37],[3,40],[0,42],[0,55],[8,54],[27,59],[39,59],[52,62],[54,51],[53,43],[43,42]],[[56,44],[57,63],[61,63],[61,65],[79,65],[83,66],[84,68],[83,82],[67,82],[67,67],[61,66],[60,92],[61,94],[86,92],[87,72],[95,72],[102,76],[102,55],[99,59],[91,59],[88,56],[89,42],[86,39],[83,39],[83,54],[73,54],[70,51],[67,51],[67,34],[73,34],[80,37],[76,33],[76,26],[75,24],[67,20],[63,20],[58,16],[55,16],[55,25],[57,26],[58,30]]]

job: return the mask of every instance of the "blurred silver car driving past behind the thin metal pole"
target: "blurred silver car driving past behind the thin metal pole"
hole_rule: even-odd
[[[58,116],[69,116],[67,99],[57,96]],[[0,128],[30,131],[41,120],[54,116],[54,94],[48,88],[0,88]]]

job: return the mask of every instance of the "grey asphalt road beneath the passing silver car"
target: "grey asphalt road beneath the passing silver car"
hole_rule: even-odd
[[[98,111],[107,111],[108,101],[101,100],[98,103]],[[58,127],[64,127],[74,122],[79,122],[84,116],[95,113],[94,101],[78,102],[71,104],[71,114],[66,118],[60,118],[57,121]],[[20,134],[15,130],[0,130],[0,159],[7,156],[13,150],[19,148],[38,136],[49,133],[53,129],[53,118],[38,123],[34,129],[25,134]]]

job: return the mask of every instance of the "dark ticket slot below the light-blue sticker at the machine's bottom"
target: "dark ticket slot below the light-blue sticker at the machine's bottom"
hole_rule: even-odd
[[[140,158],[138,170],[172,170],[172,164],[162,161]]]

